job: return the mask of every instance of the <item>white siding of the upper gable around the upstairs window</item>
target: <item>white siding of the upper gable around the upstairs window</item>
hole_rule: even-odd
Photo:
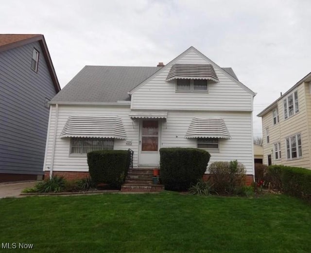
[[[180,64],[211,64],[205,58],[190,51],[177,62]],[[166,68],[167,67],[167,68]],[[244,90],[233,77],[214,67],[219,82],[208,83],[207,92],[176,92],[174,80],[166,82],[170,66],[163,67],[154,78],[132,94],[132,109],[154,110],[214,110],[251,111],[253,96]]]

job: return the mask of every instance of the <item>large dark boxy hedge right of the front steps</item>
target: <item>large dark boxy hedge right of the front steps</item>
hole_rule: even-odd
[[[210,154],[202,149],[160,148],[161,179],[166,190],[187,190],[202,179]]]

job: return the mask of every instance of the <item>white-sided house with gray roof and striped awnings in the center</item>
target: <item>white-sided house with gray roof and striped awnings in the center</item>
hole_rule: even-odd
[[[198,147],[253,180],[254,95],[193,47],[166,66],[86,66],[50,103],[45,175],[88,175],[94,149],[130,148],[134,167],[152,168],[161,147]]]

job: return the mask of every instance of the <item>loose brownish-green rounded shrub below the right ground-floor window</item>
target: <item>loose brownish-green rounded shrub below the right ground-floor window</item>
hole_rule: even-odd
[[[214,162],[209,165],[209,173],[218,194],[233,194],[237,188],[245,185],[245,166],[237,160]]]

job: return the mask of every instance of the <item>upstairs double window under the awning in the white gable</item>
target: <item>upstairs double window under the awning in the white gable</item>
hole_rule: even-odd
[[[203,79],[177,79],[176,91],[207,92],[208,82]]]

